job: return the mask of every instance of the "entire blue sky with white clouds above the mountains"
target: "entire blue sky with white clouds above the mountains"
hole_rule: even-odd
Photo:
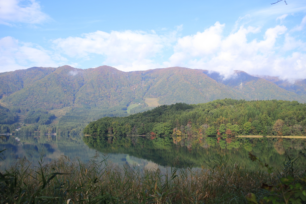
[[[182,66],[306,78],[306,1],[0,0],[0,72]]]

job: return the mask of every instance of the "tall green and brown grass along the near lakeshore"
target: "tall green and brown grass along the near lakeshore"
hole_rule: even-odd
[[[245,195],[267,195],[260,184],[274,175],[248,170],[228,156],[218,155],[208,169],[194,171],[111,165],[60,157],[50,164],[29,168],[24,160],[1,173],[1,203],[246,203]]]

